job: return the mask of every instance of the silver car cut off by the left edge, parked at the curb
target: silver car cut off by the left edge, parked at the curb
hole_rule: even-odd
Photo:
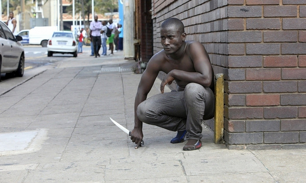
[[[0,21],[0,77],[1,73],[24,73],[24,49],[21,36],[14,36],[5,23]]]

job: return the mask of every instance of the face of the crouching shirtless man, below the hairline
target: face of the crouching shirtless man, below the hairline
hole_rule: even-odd
[[[162,47],[166,54],[173,54],[181,48],[185,41],[185,34],[181,34],[174,26],[160,29]]]

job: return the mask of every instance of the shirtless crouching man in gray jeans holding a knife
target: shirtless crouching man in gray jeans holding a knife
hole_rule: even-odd
[[[148,62],[135,97],[135,125],[131,140],[136,149],[144,135],[143,123],[177,131],[171,143],[184,141],[183,150],[199,149],[202,145],[202,120],[214,117],[214,73],[204,46],[185,41],[184,24],[177,18],[165,20],[160,27],[163,50]],[[147,99],[159,71],[167,75],[160,84],[161,93]],[[164,93],[166,84],[177,83],[177,91]]]

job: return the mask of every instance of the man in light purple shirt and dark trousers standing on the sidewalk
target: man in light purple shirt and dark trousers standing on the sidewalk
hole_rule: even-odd
[[[93,42],[93,48],[95,51],[95,57],[100,57],[99,50],[101,48],[101,29],[102,29],[102,23],[98,21],[98,16],[94,16],[94,20],[89,25],[91,32],[91,41]]]

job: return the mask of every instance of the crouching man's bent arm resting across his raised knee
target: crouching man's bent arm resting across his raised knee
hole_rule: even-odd
[[[198,83],[204,87],[209,87],[212,81],[211,63],[204,46],[200,42],[192,42],[189,44],[186,52],[193,62],[196,72],[186,72],[174,69],[170,71],[160,84],[161,93],[164,92],[166,84],[171,84],[174,79],[181,80],[186,83]]]

